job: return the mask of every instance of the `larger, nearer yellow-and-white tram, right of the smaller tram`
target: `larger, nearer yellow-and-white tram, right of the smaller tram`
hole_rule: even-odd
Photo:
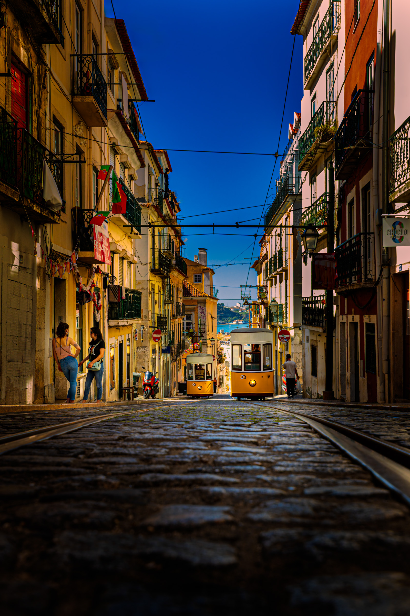
[[[274,395],[274,333],[262,328],[231,331],[231,395],[264,400]]]

